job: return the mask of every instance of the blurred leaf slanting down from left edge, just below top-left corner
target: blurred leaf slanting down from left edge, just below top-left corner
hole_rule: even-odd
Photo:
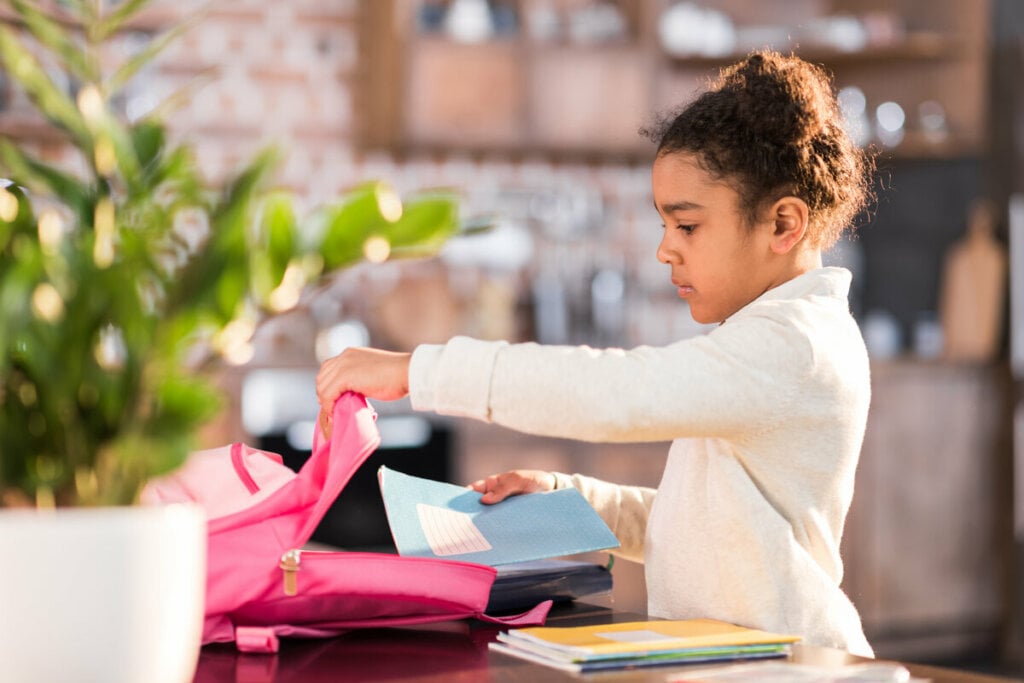
[[[0,25],[0,60],[7,74],[22,86],[39,111],[54,125],[69,131],[83,148],[91,152],[92,137],[78,108],[58,88],[39,59],[8,26]]]

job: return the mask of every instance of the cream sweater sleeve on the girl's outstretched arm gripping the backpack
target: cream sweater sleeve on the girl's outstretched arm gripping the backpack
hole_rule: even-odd
[[[785,413],[807,354],[771,321],[726,327],[630,350],[467,337],[419,346],[412,405],[586,441],[734,436]]]

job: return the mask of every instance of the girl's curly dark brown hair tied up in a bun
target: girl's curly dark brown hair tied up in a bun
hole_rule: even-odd
[[[772,202],[804,200],[808,239],[825,249],[871,199],[873,162],[847,134],[828,75],[797,56],[752,52],[641,134],[658,157],[690,153],[729,182],[752,226]]]

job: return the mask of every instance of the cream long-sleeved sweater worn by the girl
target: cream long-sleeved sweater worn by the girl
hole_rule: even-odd
[[[870,398],[850,273],[776,287],[713,332],[596,350],[457,337],[413,353],[417,410],[590,441],[672,440],[656,493],[574,485],[645,563],[648,611],[870,655],[840,541]]]

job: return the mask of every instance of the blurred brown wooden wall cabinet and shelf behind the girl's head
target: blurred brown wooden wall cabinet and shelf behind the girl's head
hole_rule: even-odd
[[[358,139],[365,148],[398,154],[645,159],[637,130],[651,114],[678,105],[705,78],[746,54],[668,54],[657,39],[659,0],[631,3],[630,38],[606,45],[536,42],[520,34],[463,44],[419,33],[413,12],[394,0],[372,7],[360,26],[375,40],[360,41],[367,46],[361,100],[370,112]],[[861,87],[869,106],[895,100],[909,118],[926,100],[942,104],[947,139],[922,139],[918,123],[908,120],[907,139],[886,154],[978,154],[987,130],[988,2],[906,0],[892,11],[923,28],[857,51],[811,44],[792,49],[828,69],[837,87]]]

